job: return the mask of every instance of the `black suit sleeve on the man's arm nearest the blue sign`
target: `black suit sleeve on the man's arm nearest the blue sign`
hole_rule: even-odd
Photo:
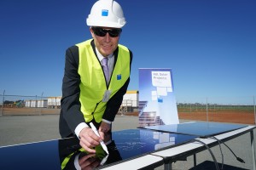
[[[132,63],[132,52],[130,51],[130,72],[131,72],[131,63]],[[111,99],[108,100],[106,111],[104,112],[104,115],[102,116],[103,119],[108,120],[109,122],[113,122],[114,117],[119,111],[120,105],[122,105],[123,97],[126,94],[128,85],[130,82],[130,77],[125,82],[124,86],[119,89],[119,91],[113,95]]]

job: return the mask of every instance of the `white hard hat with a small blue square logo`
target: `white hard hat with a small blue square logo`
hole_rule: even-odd
[[[87,26],[122,28],[125,26],[123,9],[113,0],[99,0],[92,6]]]

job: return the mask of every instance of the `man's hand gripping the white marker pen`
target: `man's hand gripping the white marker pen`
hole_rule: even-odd
[[[96,150],[92,148],[96,147],[102,140],[104,140],[104,133],[99,133],[102,138],[98,137],[90,127],[84,127],[79,133],[79,144],[89,153],[96,153]]]

